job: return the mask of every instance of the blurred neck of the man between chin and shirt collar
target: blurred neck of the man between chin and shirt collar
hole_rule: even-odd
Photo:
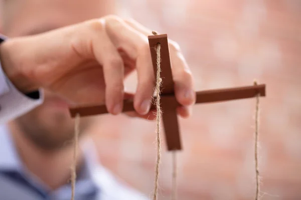
[[[16,123],[9,123],[9,128],[23,165],[40,181],[52,190],[70,181],[73,145],[59,150],[41,149],[25,136]],[[82,160],[82,151],[78,150],[77,166]]]

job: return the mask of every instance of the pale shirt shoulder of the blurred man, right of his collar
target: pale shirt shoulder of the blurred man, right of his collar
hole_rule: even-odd
[[[149,200],[146,194],[130,187],[102,166],[99,166],[96,170],[94,170],[93,178],[100,189],[99,199]]]

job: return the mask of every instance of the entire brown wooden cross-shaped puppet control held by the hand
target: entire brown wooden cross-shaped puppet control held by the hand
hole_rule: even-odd
[[[150,53],[152,55],[155,77],[157,72],[157,54],[155,47],[158,43],[161,44],[161,105],[163,110],[162,118],[167,147],[168,150],[181,150],[182,145],[180,138],[180,128],[176,111],[176,108],[180,105],[180,103],[178,103],[178,101],[176,100],[174,93],[174,81],[172,77],[167,34],[149,35],[148,42]],[[258,94],[260,96],[265,96],[265,84],[197,91],[196,103],[210,103],[242,98],[252,98]],[[156,99],[156,97],[154,97],[154,99]],[[150,109],[155,108],[156,106],[153,102]],[[123,101],[122,112],[126,111],[134,111],[132,99]],[[80,116],[89,116],[108,113],[108,111],[105,104],[70,107],[70,114],[72,117],[75,117],[77,113]]]

